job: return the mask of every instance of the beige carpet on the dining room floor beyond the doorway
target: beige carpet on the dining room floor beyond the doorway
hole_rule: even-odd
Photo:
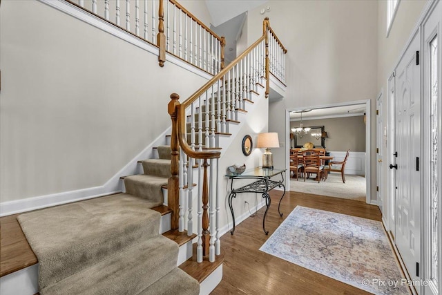
[[[313,193],[314,195],[329,196],[365,202],[365,177],[359,175],[345,175],[343,183],[340,173],[329,173],[327,180],[317,182],[314,176],[310,179],[290,178],[290,191]]]

